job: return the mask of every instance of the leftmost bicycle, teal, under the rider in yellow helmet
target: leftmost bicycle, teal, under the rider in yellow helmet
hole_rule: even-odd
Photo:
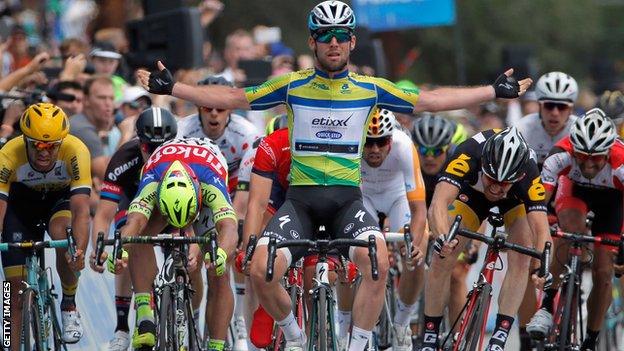
[[[21,351],[67,350],[62,338],[61,324],[56,314],[56,299],[52,270],[45,267],[44,249],[68,249],[75,259],[76,241],[70,227],[67,239],[49,241],[24,241],[0,243],[0,252],[20,249],[26,252],[25,288],[20,291],[22,300]],[[78,274],[78,273],[77,273]],[[50,338],[52,340],[50,341]]]

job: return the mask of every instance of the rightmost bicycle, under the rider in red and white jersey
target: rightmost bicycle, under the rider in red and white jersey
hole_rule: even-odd
[[[584,340],[583,309],[581,296],[582,284],[582,247],[585,243],[600,243],[602,245],[618,247],[618,260],[624,259],[624,242],[604,239],[577,233],[566,233],[559,228],[551,228],[551,236],[562,238],[570,242],[566,272],[562,274],[562,283],[559,287],[559,298],[553,314],[553,327],[550,333],[543,338],[542,334],[533,334],[537,340],[538,350],[578,350]],[[591,261],[590,261],[591,262]]]

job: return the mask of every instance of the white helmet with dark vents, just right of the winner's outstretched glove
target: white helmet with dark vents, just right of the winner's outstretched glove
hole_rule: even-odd
[[[563,72],[546,73],[535,85],[537,101],[575,103],[578,97],[578,84],[571,76]]]

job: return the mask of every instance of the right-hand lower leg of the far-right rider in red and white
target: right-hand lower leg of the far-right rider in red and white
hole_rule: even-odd
[[[593,285],[587,298],[587,336],[582,350],[595,347],[598,332],[602,328],[604,316],[613,298],[612,279],[613,253],[606,246],[596,245],[592,264]]]

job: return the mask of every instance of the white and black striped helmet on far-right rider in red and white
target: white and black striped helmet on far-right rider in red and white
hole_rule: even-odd
[[[587,111],[570,128],[574,151],[587,154],[608,153],[617,137],[613,121],[599,108]]]

